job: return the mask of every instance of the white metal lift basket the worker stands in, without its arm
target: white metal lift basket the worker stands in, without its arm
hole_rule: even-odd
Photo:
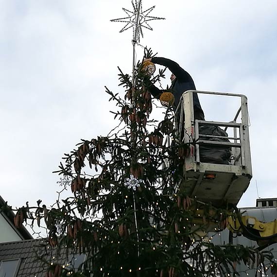
[[[239,97],[241,105],[234,120],[230,122],[194,120],[193,93]],[[182,136],[185,143],[190,143],[190,154],[184,164],[186,178],[183,186],[190,197],[197,197],[199,201],[211,203],[215,207],[220,207],[225,203],[236,205],[252,178],[246,96],[189,90],[183,94],[178,108],[180,109],[178,126],[180,137]],[[208,125],[224,129],[228,133],[228,137],[225,137],[228,140],[210,140],[212,137],[220,137],[199,134],[199,127]],[[230,162],[227,164],[202,162],[200,153],[202,145],[215,146],[215,148],[216,146],[230,147]]]

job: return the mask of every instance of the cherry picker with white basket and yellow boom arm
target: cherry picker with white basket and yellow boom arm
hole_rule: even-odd
[[[240,106],[232,121],[201,121],[194,120],[193,93],[217,95],[220,97],[239,98]],[[247,98],[242,94],[189,90],[183,93],[179,109],[180,120],[177,123],[178,134],[190,145],[185,158],[185,181],[182,184],[190,198],[198,203],[209,204],[214,208],[227,207],[228,216],[224,224],[206,224],[206,232],[228,229],[237,235],[255,240],[260,247],[277,242],[277,219],[273,222],[261,222],[255,217],[243,216],[237,208],[242,194],[247,190],[252,178],[251,154],[249,143],[249,123]],[[203,126],[214,126],[224,129],[225,136],[203,134]],[[214,151],[225,147],[230,151],[228,162],[207,162],[201,158],[203,146],[214,147]],[[193,209],[195,207],[191,207]],[[203,209],[197,208],[196,225],[203,225]]]

